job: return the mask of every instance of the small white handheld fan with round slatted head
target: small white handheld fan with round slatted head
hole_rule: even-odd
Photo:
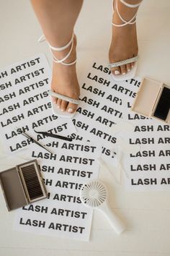
[[[107,189],[102,182],[95,180],[84,184],[80,192],[81,202],[90,208],[100,210],[107,217],[112,228],[117,234],[121,234],[125,230],[122,221],[109,209],[107,203]]]

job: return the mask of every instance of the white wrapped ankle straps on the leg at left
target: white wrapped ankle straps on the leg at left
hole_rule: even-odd
[[[70,63],[66,63],[66,62],[63,62],[63,61],[66,61],[66,59],[68,58],[68,56],[70,56],[71,54],[71,51],[73,50],[73,37],[74,37],[74,34],[72,34],[71,36],[71,40],[69,40],[69,42],[65,45],[65,46],[62,46],[62,47],[54,47],[54,46],[51,46],[50,43],[48,43],[48,46],[50,48],[50,52],[53,56],[53,61],[56,62],[56,63],[61,63],[63,65],[66,65],[66,66],[71,66],[73,64],[76,63],[76,59]],[[42,42],[43,40],[45,40],[45,36],[42,35],[39,39],[38,39],[38,42]],[[68,46],[71,45],[71,48],[70,50],[68,51],[68,54],[66,54],[66,56],[63,57],[63,59],[58,59],[54,54],[53,54],[53,51],[63,51],[65,50],[66,48],[68,48]],[[52,51],[53,50],[53,51]]]

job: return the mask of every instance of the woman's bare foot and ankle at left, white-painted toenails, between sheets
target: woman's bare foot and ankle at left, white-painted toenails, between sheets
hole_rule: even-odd
[[[53,55],[58,59],[63,59],[71,46],[66,48],[63,51],[53,51]],[[76,59],[76,37],[73,38],[73,50],[71,51],[70,56],[64,61],[65,63],[71,63]],[[55,93],[60,93],[69,98],[78,100],[80,95],[79,82],[76,75],[76,64],[66,66],[61,63],[55,63],[53,61],[53,74],[51,81],[51,90]],[[68,103],[59,98],[52,96],[52,101],[57,104],[58,108],[61,108],[61,111],[68,111],[73,113],[76,111],[77,105],[73,103]]]

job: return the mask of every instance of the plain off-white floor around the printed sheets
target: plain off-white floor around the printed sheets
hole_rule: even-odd
[[[71,0],[73,1],[73,0]],[[81,53],[107,59],[110,38],[111,0],[85,0],[76,25]],[[30,1],[0,0],[0,68],[37,52],[41,35]],[[170,1],[143,0],[138,13],[140,61],[138,76],[170,83]],[[1,148],[1,152],[2,152]],[[0,153],[1,154],[1,153]],[[1,155],[0,155],[1,156]],[[109,179],[109,177],[108,177]],[[94,214],[90,242],[75,242],[50,236],[12,231],[14,213],[6,213],[0,195],[0,256],[168,256],[170,255],[170,193],[125,192],[115,184],[112,208],[127,221],[128,231],[113,233],[99,213]]]

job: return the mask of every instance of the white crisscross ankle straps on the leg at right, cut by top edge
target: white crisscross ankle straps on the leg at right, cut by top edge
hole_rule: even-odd
[[[115,1],[116,1],[117,14],[118,14],[118,16],[120,17],[120,20],[122,20],[123,23],[122,24],[115,24],[114,22],[112,22],[112,25],[115,26],[115,27],[123,27],[123,26],[128,25],[128,24],[130,24],[130,25],[134,24],[136,22],[137,12],[135,13],[135,15],[130,20],[124,20],[121,16],[120,12],[119,12],[119,9],[118,9],[118,4],[117,4],[118,0],[115,0]],[[139,7],[142,1],[140,1],[140,3],[138,3],[138,4],[128,4],[125,0],[120,0],[120,2],[122,4],[124,4],[126,7],[130,7],[130,8]]]

